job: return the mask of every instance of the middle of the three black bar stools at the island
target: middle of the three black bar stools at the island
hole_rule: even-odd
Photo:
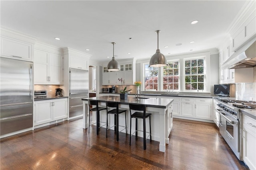
[[[127,129],[126,129],[126,110],[122,110],[118,108],[118,102],[109,102],[106,101],[106,107],[107,107],[107,129],[106,129],[106,138],[108,137],[108,114],[114,114],[114,131],[116,131],[116,141],[119,141],[119,120],[118,120],[118,115],[120,113],[124,113],[125,114],[125,133],[127,134]],[[115,107],[115,109],[112,109],[110,111],[108,111],[108,107]],[[110,127],[109,129],[111,129],[112,127]],[[124,127],[124,126],[121,126]],[[121,131],[123,131],[124,129],[122,129]],[[121,132],[120,131],[120,132]]]

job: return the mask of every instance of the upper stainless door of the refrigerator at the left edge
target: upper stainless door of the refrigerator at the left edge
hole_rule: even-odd
[[[0,58],[0,104],[32,103],[32,62]]]

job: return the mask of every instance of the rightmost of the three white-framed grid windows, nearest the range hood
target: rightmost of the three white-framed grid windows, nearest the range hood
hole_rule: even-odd
[[[184,65],[185,90],[204,90],[204,59],[186,59]]]

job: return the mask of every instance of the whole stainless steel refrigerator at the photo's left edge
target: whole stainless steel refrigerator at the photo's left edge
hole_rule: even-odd
[[[32,64],[0,57],[0,135],[33,126]]]

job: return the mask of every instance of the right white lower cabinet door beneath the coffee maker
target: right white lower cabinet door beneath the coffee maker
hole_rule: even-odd
[[[68,117],[67,114],[67,99],[53,100],[53,120],[63,119]]]

